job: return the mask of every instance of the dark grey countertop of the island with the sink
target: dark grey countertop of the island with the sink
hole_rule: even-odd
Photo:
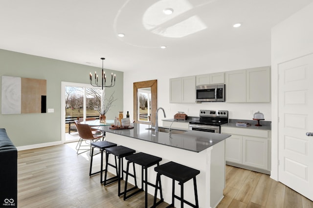
[[[195,152],[203,151],[230,136],[229,134],[200,132],[186,129],[181,129],[182,131],[184,131],[183,133],[172,133],[171,135],[169,135],[169,133],[166,132],[155,132],[152,130],[147,130],[148,128],[152,127],[151,125],[137,123],[134,123],[132,125],[134,125],[133,129],[123,130],[110,129],[110,126],[99,126],[93,128],[105,132],[115,133],[122,136],[132,137],[135,139]],[[178,130],[178,128],[174,129]]]

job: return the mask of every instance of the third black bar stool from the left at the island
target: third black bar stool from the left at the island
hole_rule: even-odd
[[[140,191],[143,191],[144,190],[143,184],[145,184],[145,208],[148,207],[148,185],[155,187],[156,189],[160,189],[161,200],[158,201],[156,205],[163,202],[161,187],[156,187],[156,185],[148,182],[148,168],[151,166],[154,166],[154,165],[159,166],[159,162],[162,160],[162,158],[156,157],[156,156],[151,155],[151,154],[139,152],[139,153],[135,153],[135,154],[131,154],[129,156],[126,156],[125,159],[128,160],[128,162],[127,162],[126,179],[125,179],[124,200],[130,198],[131,196],[133,196],[134,194],[136,194]],[[138,164],[141,166],[141,189],[138,189],[138,190],[134,191],[133,193],[131,193],[130,195],[127,196],[127,194],[126,194],[127,192],[129,192],[130,190],[138,188],[136,180],[135,180],[135,186],[133,188],[127,190],[129,165],[131,163],[133,163],[133,167],[134,167],[134,164]],[[145,177],[143,177],[143,170],[145,170]],[[135,176],[136,176],[136,173],[134,172],[134,177]]]

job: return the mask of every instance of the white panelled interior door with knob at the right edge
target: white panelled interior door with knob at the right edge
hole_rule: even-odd
[[[313,54],[278,66],[279,181],[313,200]]]

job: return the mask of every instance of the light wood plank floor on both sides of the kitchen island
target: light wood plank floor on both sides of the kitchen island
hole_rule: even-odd
[[[124,201],[117,184],[104,187],[99,175],[89,177],[89,153],[76,155],[75,145],[18,152],[19,208],[144,207],[143,192]],[[99,170],[100,155],[94,158],[93,170]],[[224,195],[218,208],[313,208],[312,201],[268,175],[231,166],[226,166]],[[151,195],[148,201],[151,206]]]

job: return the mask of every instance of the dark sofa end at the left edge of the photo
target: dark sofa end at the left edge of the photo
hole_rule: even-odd
[[[18,151],[5,129],[0,129],[0,207],[18,205]]]

